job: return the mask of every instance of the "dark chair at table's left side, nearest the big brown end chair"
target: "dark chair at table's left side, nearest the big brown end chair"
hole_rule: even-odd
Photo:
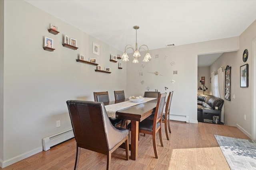
[[[93,92],[95,102],[109,102],[108,92]],[[109,117],[113,126],[120,126],[123,119]],[[123,124],[123,123],[122,123]]]

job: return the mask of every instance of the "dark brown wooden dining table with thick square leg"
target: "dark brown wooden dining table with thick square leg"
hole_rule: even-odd
[[[112,105],[112,104],[118,104],[121,102],[130,102],[129,99],[122,99],[122,100],[115,100],[110,102],[104,102],[104,105]],[[117,110],[115,113],[116,118],[124,119],[124,120],[130,120],[131,121],[131,144],[130,144],[130,150],[131,150],[131,159],[136,160],[138,157],[138,141],[139,141],[139,122],[143,121],[156,109],[157,104],[157,98],[152,98],[150,101],[141,103],[138,102],[135,106],[126,107],[120,110]],[[106,111],[108,113],[108,109],[106,108]],[[109,117],[113,117],[110,116]]]

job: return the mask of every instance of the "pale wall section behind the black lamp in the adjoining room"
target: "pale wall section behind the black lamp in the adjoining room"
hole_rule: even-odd
[[[210,66],[208,67],[198,67],[197,68],[197,89],[199,87],[201,87],[203,89],[203,85],[200,83],[200,80],[201,80],[201,77],[205,77],[205,86],[207,87],[207,90],[206,88],[204,87],[205,89],[205,92],[203,90],[197,90],[197,94],[212,94],[212,87],[211,87],[211,83],[210,83]]]

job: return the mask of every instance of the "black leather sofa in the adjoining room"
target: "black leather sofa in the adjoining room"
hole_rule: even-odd
[[[212,95],[198,94],[197,95],[197,120],[199,122],[204,122],[203,120],[203,108],[209,108],[215,110],[215,107],[218,107],[218,110],[222,109],[224,100]]]

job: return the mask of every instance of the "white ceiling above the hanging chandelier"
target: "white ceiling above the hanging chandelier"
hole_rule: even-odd
[[[25,1],[121,51],[135,46],[134,25],[138,47],[159,49],[239,36],[256,20],[256,0]]]

